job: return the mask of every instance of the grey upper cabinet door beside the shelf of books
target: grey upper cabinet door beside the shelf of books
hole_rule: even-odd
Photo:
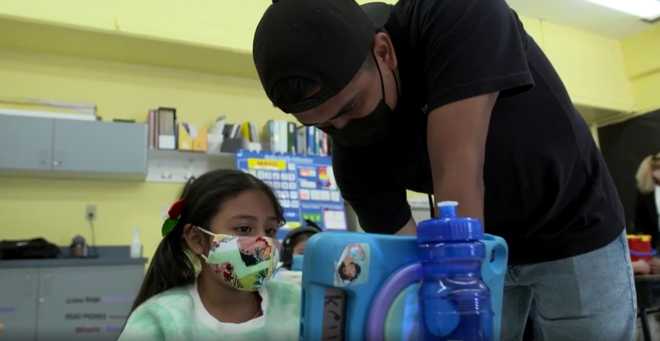
[[[56,171],[144,178],[147,127],[144,124],[57,120],[53,165]]]

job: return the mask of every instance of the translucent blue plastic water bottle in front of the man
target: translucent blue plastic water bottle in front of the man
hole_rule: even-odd
[[[425,339],[491,341],[490,291],[481,279],[483,228],[477,219],[457,217],[456,206],[454,201],[441,202],[437,219],[417,225]]]

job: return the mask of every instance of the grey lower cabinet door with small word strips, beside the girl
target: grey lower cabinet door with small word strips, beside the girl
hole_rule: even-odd
[[[37,340],[116,340],[143,276],[143,265],[43,269]]]

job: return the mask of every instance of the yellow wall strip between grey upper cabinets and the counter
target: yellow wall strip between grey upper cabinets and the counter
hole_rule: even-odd
[[[96,204],[96,242],[128,245],[133,227],[140,229],[145,256],[160,240],[162,212],[180,185],[144,182],[89,181],[0,177],[0,239],[41,236],[69,245],[80,234],[91,242],[84,219],[87,204]]]

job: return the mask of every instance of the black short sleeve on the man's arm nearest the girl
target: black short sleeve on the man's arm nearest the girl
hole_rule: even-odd
[[[412,217],[406,190],[396,184],[374,154],[341,148],[332,157],[337,185],[370,233],[394,234]]]

